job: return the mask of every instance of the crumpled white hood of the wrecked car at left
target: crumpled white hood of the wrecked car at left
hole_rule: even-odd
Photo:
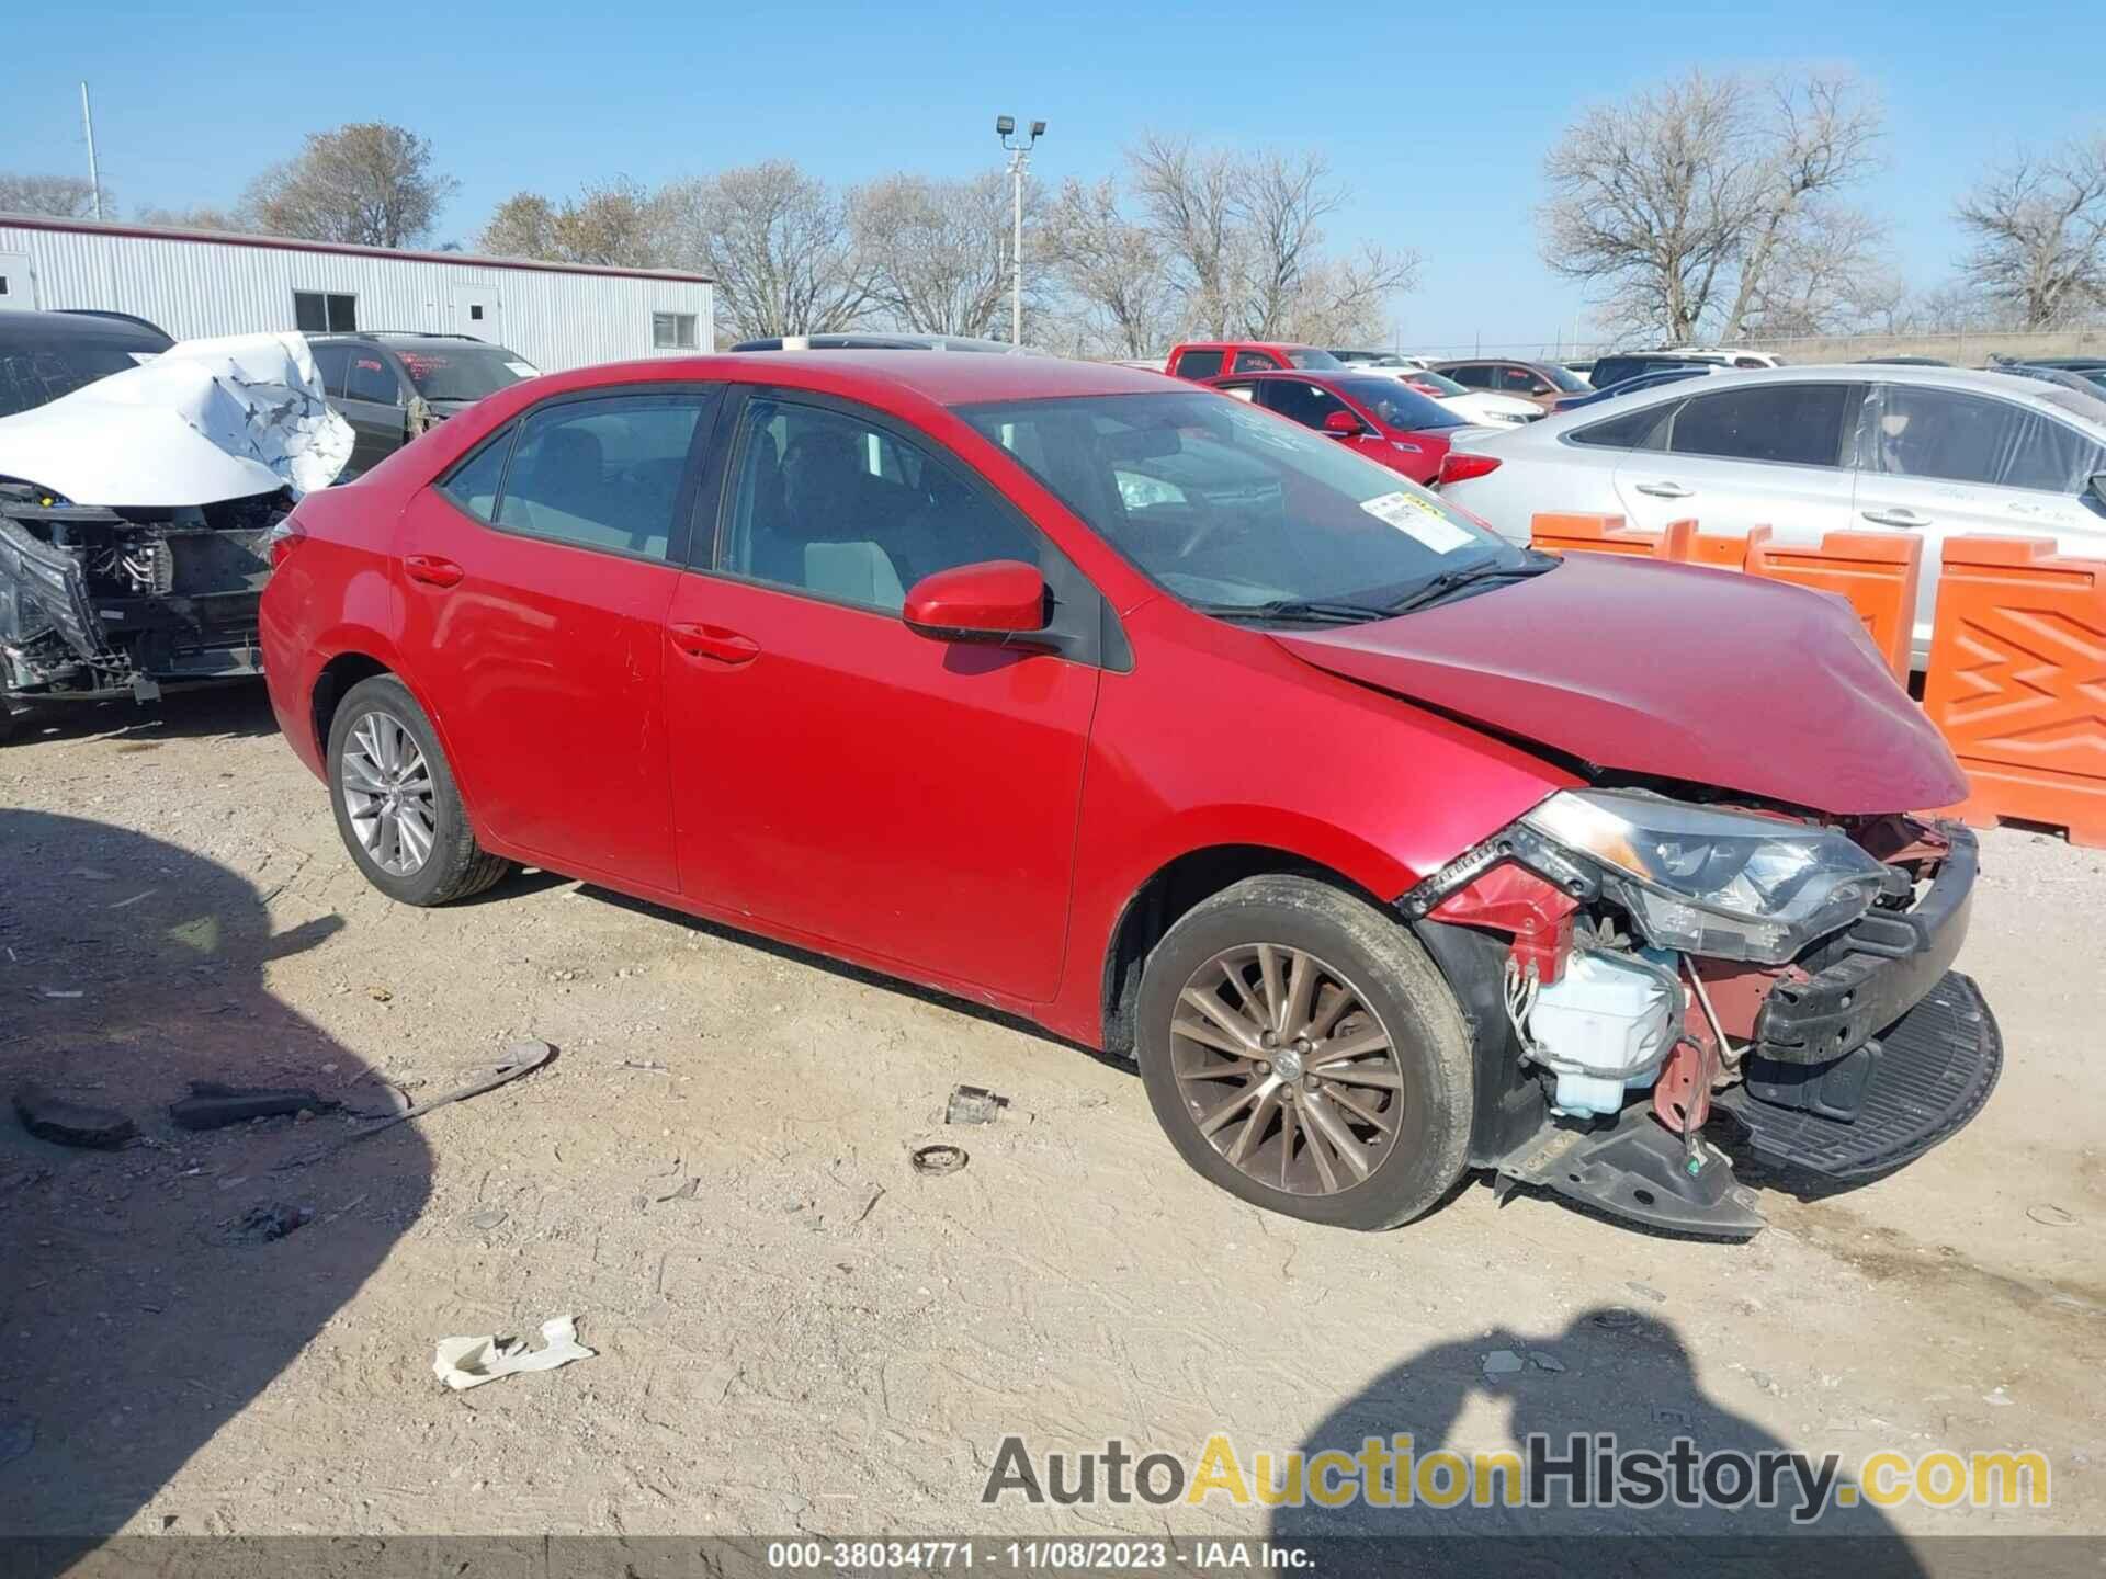
[[[314,493],[352,459],[299,335],[190,339],[48,406],[0,417],[0,478],[110,509]]]

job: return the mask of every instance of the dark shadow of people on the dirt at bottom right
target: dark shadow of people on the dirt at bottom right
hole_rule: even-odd
[[[1462,1427],[1466,1406],[1478,1398],[1506,1415],[1504,1430],[1487,1423],[1478,1427],[1487,1434],[1478,1436]],[[1411,1505],[1369,1507],[1354,1501],[1333,1510],[1314,1503],[1283,1507],[1272,1520],[1274,1539],[1363,1537],[1365,1545],[1344,1547],[1335,1564],[1327,1562],[1325,1573],[1337,1575],[1394,1573],[1398,1552],[1386,1550],[1382,1537],[1455,1537],[1453,1543],[1411,1550],[1413,1571],[1430,1573],[1653,1573],[1651,1558],[1664,1558],[1666,1568],[1676,1573],[1716,1566],[1771,1573],[1780,1564],[1790,1571],[1801,1560],[1790,1556],[1792,1550],[1805,1562],[1820,1562],[1824,1573],[1843,1552],[1853,1554],[1851,1571],[1860,1579],[1923,1573],[1887,1516],[1855,1501],[1851,1472],[1860,1451],[1885,1444],[1855,1440],[1849,1451],[1834,1444],[1843,1451],[1834,1484],[1849,1484],[1851,1491],[1830,1497],[1826,1512],[1809,1522],[1792,1516],[1801,1505],[1801,1480],[1788,1470],[1775,1480],[1777,1505],[1744,1499],[1737,1474],[1727,1467],[1710,1472],[1718,1476],[1708,1486],[1712,1505],[1678,1505],[1674,1472],[1666,1467],[1676,1438],[1689,1442],[1683,1457],[1700,1461],[1725,1453],[1756,1459],[1788,1444],[1706,1394],[1674,1326],[1634,1310],[1590,1310],[1561,1333],[1497,1328],[1428,1347],[1327,1413],[1304,1438],[1302,1451],[1337,1448],[1352,1457],[1363,1451],[1365,1438],[1392,1444],[1398,1434],[1411,1438],[1409,1451],[1419,1467]],[[1554,1480],[1548,1505],[1504,1505],[1502,1499],[1489,1507],[1468,1501],[1428,1505],[1428,1486],[1438,1497],[1447,1484],[1441,1472],[1426,1467],[1428,1455],[1449,1448],[1470,1461],[1478,1451],[1527,1444],[1531,1436],[1546,1438],[1548,1451],[1563,1459],[1571,1459],[1575,1436],[1586,1438],[1586,1461],[1596,1461],[1594,1448],[1611,1436],[1615,1448],[1626,1453],[1662,1455],[1660,1484],[1666,1495],[1647,1501],[1647,1488],[1638,1486],[1636,1497],[1626,1493],[1617,1505],[1607,1505],[1603,1497],[1594,1505],[1577,1505],[1569,1482]],[[1790,1446],[1805,1448],[1815,1472],[1830,1451],[1830,1444]],[[1596,1470],[1588,1474],[1596,1476],[1590,1484],[1605,1484]],[[1700,1491],[1706,1488],[1704,1474],[1702,1463],[1691,1470],[1691,1484]],[[1630,1486],[1630,1480],[1624,1484]],[[1590,1539],[1575,1543],[1575,1537]],[[1443,1554],[1453,1562],[1436,1562]]]

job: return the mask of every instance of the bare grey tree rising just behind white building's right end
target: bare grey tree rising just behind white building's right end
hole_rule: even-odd
[[[823,335],[870,309],[847,200],[790,160],[678,181],[659,194],[670,261],[716,282],[733,339]]]

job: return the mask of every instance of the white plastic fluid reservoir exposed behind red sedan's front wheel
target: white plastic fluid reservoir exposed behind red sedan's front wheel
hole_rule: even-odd
[[[1529,1011],[1531,1057],[1558,1078],[1552,1110],[1613,1114],[1624,1091],[1649,1086],[1683,1023],[1674,956],[1577,952]]]

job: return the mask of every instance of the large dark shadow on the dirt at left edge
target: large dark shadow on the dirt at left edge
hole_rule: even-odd
[[[206,1533],[208,1503],[158,1510],[156,1491],[417,1219],[430,1152],[404,1124],[278,1168],[352,1120],[192,1133],[168,1118],[190,1080],[312,1086],[385,1110],[366,1063],[265,987],[270,960],[324,941],[339,918],[274,935],[240,874],[44,813],[0,811],[0,1099],[38,1082],[139,1126],[124,1150],[76,1150],[0,1110],[0,1533],[80,1547],[164,1520]],[[274,1236],[270,1213],[299,1225]],[[238,1470],[265,1484],[272,1472]],[[282,1495],[297,1526],[297,1486]]]

